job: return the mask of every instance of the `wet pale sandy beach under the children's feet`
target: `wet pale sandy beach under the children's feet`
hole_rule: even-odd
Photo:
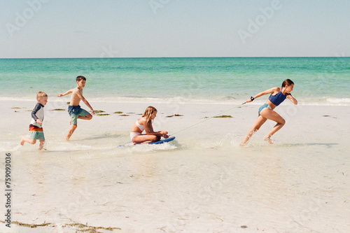
[[[12,220],[51,224],[33,229],[13,224],[9,231],[0,223],[1,232],[84,229],[75,223],[120,228],[113,232],[350,230],[349,106],[281,105],[276,110],[287,122],[275,144],[262,140],[272,127],[267,122],[242,148],[256,104],[194,127],[235,106],[91,104],[110,115],[78,122],[66,142],[68,114],[50,111],[66,104],[49,99],[47,150],[38,152],[38,145],[18,146],[35,102],[1,101],[1,167],[6,152],[13,156]],[[130,141],[130,127],[148,105],[158,108],[155,129],[172,134],[190,128],[175,134],[174,143],[118,148]]]

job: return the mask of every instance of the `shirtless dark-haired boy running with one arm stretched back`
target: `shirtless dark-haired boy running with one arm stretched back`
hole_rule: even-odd
[[[84,76],[76,77],[77,87],[67,91],[64,94],[57,94],[57,97],[63,97],[66,94],[71,94],[71,103],[68,106],[68,113],[71,117],[71,129],[69,129],[68,134],[66,135],[66,140],[68,141],[71,138],[71,134],[78,127],[78,119],[82,120],[91,120],[92,115],[94,115],[94,109],[90,106],[89,102],[83,97],[83,88],[85,87],[86,78]],[[86,104],[87,107],[91,109],[91,112],[87,112],[83,108],[80,108],[80,100]]]

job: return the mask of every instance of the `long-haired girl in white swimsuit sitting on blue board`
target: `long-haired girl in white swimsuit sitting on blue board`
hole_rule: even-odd
[[[165,139],[169,138],[167,131],[153,131],[152,121],[156,116],[157,109],[152,106],[146,108],[144,115],[132,125],[132,129],[130,130],[130,139],[132,143],[151,143],[159,141],[161,136]],[[144,131],[146,134],[142,134]]]

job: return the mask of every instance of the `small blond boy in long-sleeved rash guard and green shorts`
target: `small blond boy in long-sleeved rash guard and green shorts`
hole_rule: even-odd
[[[45,92],[38,92],[36,94],[36,100],[38,103],[36,103],[33,111],[31,111],[29,138],[22,137],[20,144],[22,146],[25,144],[25,142],[35,144],[36,139],[38,139],[40,141],[39,150],[42,150],[45,143],[45,136],[43,134],[43,108],[48,103],[48,95]]]

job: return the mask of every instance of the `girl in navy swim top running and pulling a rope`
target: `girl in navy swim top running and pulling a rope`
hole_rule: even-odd
[[[267,119],[273,120],[276,123],[276,125],[272,128],[272,130],[264,137],[264,140],[267,141],[270,144],[273,144],[271,141],[271,136],[274,135],[283,125],[286,123],[286,121],[274,111],[274,108],[276,106],[279,106],[286,98],[290,99],[290,101],[293,102],[293,104],[297,105],[297,100],[292,97],[290,92],[293,90],[294,83],[290,79],[286,79],[282,83],[282,87],[272,87],[269,90],[265,90],[263,92],[260,92],[255,95],[255,97],[251,97],[251,99],[248,99],[246,103],[249,103],[253,101],[255,98],[261,97],[265,94],[271,94],[269,96],[269,99],[267,99],[266,103],[263,104],[259,108],[259,116],[255,120],[255,124],[249,131],[246,133],[246,136],[244,137],[243,141],[241,142],[241,146],[244,146],[246,142],[249,140],[255,132],[257,132],[262,124],[266,122]]]

